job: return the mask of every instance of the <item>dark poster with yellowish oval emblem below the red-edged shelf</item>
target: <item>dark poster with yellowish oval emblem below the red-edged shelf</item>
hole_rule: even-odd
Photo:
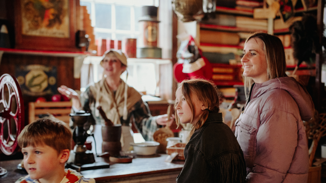
[[[55,66],[27,65],[16,68],[15,77],[23,95],[44,96],[57,92],[57,68]]]

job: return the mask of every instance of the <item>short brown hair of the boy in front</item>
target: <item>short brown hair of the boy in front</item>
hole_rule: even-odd
[[[60,153],[64,149],[71,149],[71,140],[69,126],[49,115],[25,126],[18,136],[18,145],[21,148],[48,145]]]

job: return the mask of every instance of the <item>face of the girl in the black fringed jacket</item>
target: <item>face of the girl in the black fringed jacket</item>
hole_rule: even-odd
[[[199,120],[200,114],[203,113],[202,110],[205,109],[204,104],[198,99],[197,96],[192,95],[191,99],[194,104],[195,108],[195,118],[191,122],[192,117],[192,111],[188,104],[188,102],[185,100],[184,95],[182,94],[182,88],[178,88],[176,93],[176,99],[175,99],[175,110],[177,111],[177,115],[179,117],[180,123],[187,124],[187,123],[196,123]]]

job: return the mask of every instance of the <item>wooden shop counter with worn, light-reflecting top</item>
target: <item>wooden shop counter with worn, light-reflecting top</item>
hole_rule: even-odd
[[[156,156],[137,157],[132,163],[110,163],[110,168],[82,171],[82,175],[95,178],[96,182],[175,182],[176,177],[182,170],[184,162],[164,162],[167,154]],[[1,167],[7,169],[8,173],[0,177],[1,183],[14,183],[20,177],[26,176],[25,171],[17,169],[22,160],[1,161]],[[96,161],[105,161],[96,158]]]

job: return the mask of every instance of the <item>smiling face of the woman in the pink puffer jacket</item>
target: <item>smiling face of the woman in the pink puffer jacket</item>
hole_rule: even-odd
[[[244,56],[241,59],[243,75],[252,77],[255,83],[268,81],[267,61],[264,44],[259,38],[251,38],[244,45]]]

